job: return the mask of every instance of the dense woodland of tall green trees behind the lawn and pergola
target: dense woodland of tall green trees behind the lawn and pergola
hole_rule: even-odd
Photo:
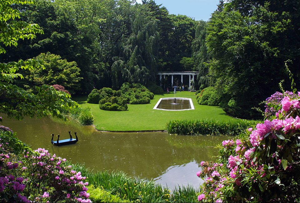
[[[43,34],[6,47],[1,62],[35,58],[46,69],[21,70],[19,87],[62,85],[71,94],[94,88],[146,87],[158,71],[199,71],[200,90],[213,87],[227,114],[256,118],[253,107],[300,84],[300,2],[220,1],[210,20],[169,14],[154,0],[37,0],[15,5],[20,20]],[[287,66],[285,62],[287,62]]]

